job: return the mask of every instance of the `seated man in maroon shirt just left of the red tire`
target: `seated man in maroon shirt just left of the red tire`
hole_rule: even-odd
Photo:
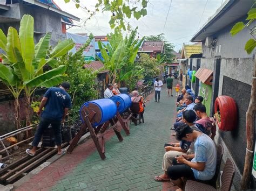
[[[203,125],[206,135],[214,139],[216,135],[216,124],[214,119],[208,117],[206,114],[206,108],[204,104],[196,104],[194,106],[194,111],[196,111],[197,116],[200,118],[196,123]]]

